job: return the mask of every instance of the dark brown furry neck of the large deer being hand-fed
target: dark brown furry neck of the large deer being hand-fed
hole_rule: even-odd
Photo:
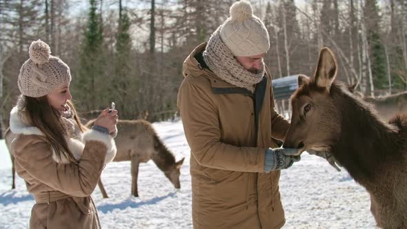
[[[366,103],[346,94],[341,100],[341,134],[332,154],[366,187],[380,179],[388,160],[395,159],[395,129],[381,121]]]

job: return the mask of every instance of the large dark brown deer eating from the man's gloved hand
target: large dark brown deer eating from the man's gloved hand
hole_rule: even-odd
[[[334,157],[369,192],[377,226],[407,228],[407,115],[382,121],[335,81],[337,72],[334,55],[323,48],[315,75],[299,76],[284,147]]]

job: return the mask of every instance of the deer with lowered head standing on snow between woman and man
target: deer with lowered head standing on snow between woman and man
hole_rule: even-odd
[[[90,128],[94,121],[86,123],[86,127]],[[131,161],[132,195],[139,196],[137,190],[139,163],[146,163],[150,159],[164,172],[175,188],[181,188],[179,169],[184,158],[175,161],[174,155],[161,142],[151,123],[144,120],[119,120],[117,130],[115,139],[117,154],[113,161]],[[103,198],[108,198],[101,180],[98,185]]]

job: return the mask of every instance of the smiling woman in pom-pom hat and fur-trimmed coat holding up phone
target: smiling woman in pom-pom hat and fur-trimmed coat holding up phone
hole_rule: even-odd
[[[17,173],[34,195],[30,228],[100,228],[90,197],[116,155],[117,110],[103,110],[86,130],[70,102],[70,70],[43,41],[21,67],[21,96],[10,113]]]

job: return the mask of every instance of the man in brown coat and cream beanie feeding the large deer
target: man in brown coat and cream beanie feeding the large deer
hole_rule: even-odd
[[[230,14],[183,63],[178,108],[191,149],[193,225],[281,228],[279,170],[299,158],[272,140],[284,140],[289,123],[274,109],[264,23],[247,1]]]

